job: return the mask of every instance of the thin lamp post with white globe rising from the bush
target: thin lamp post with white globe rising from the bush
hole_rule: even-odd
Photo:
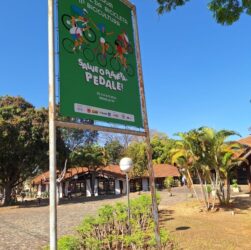
[[[126,174],[126,194],[127,194],[127,203],[128,203],[128,229],[129,229],[129,234],[131,234],[131,223],[130,223],[130,199],[129,199],[129,178],[128,178],[128,173],[133,167],[133,162],[131,158],[124,157],[120,160],[119,166],[122,172]]]

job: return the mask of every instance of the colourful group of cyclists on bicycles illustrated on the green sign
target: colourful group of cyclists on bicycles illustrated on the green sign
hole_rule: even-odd
[[[87,62],[96,61],[101,67],[108,66],[114,72],[123,70],[128,76],[134,76],[135,70],[128,63],[134,49],[125,31],[118,35],[107,32],[105,24],[96,25],[87,10],[76,5],[71,5],[71,14],[61,16],[61,22],[70,35],[61,40],[67,53],[81,53]],[[110,36],[115,38],[113,44],[108,41]]]

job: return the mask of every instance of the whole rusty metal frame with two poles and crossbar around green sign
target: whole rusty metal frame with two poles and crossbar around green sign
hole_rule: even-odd
[[[54,41],[54,7],[56,0],[48,0],[48,72],[49,72],[49,170],[50,170],[50,249],[57,249],[57,184],[56,184],[56,127],[76,128],[76,129],[89,129],[96,131],[105,131],[112,133],[124,133],[145,137],[147,145],[147,159],[148,159],[148,172],[150,180],[150,191],[152,197],[152,214],[154,219],[154,231],[157,249],[161,249],[160,231],[159,231],[159,218],[158,207],[156,199],[156,189],[154,181],[154,172],[152,164],[152,148],[150,144],[150,131],[148,125],[145,89],[142,73],[142,64],[140,56],[139,35],[137,25],[136,7],[128,0],[119,0],[126,4],[131,9],[134,29],[134,39],[136,48],[137,71],[139,79],[140,103],[143,118],[144,131],[120,129],[115,127],[86,125],[79,123],[69,123],[57,120],[56,115],[56,96],[55,96],[55,41]]]

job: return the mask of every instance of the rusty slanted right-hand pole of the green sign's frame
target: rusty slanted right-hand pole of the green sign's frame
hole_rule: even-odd
[[[147,160],[148,160],[148,173],[149,173],[149,182],[150,182],[150,191],[152,196],[152,212],[153,212],[153,220],[154,220],[154,232],[155,239],[157,243],[157,249],[161,249],[160,242],[160,231],[159,231],[159,215],[158,215],[158,205],[156,198],[156,189],[154,182],[154,172],[153,172],[153,164],[152,164],[152,148],[150,144],[150,132],[148,126],[148,117],[146,110],[146,100],[145,100],[145,89],[144,89],[144,81],[143,81],[143,73],[141,66],[141,56],[140,56],[140,47],[139,47],[139,34],[138,34],[138,25],[137,25],[137,15],[136,15],[136,7],[133,6],[133,21],[134,21],[134,31],[135,31],[135,39],[136,39],[136,53],[137,53],[137,65],[138,65],[138,77],[139,77],[139,87],[140,87],[140,96],[141,96],[141,106],[142,106],[142,114],[144,121],[144,128],[146,133],[146,145],[147,145]]]

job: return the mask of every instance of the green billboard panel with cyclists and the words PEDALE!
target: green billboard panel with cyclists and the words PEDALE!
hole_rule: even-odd
[[[120,0],[59,0],[60,114],[142,126],[132,11]]]

